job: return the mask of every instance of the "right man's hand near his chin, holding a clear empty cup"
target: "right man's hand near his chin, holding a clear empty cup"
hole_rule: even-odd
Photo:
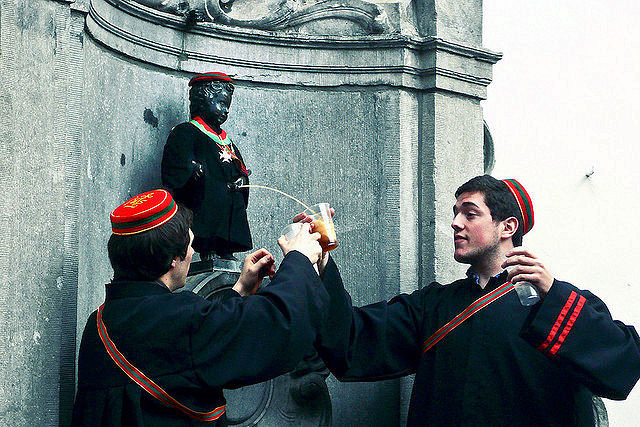
[[[518,246],[505,254],[507,260],[502,268],[512,267],[507,279],[513,283],[529,282],[541,296],[546,295],[553,284],[553,275],[547,267],[529,250]]]

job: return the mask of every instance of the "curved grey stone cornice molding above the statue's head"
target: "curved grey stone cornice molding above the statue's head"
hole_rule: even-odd
[[[93,0],[89,33],[139,61],[234,79],[304,86],[390,85],[486,98],[500,58],[439,38],[378,34],[313,36],[197,22],[133,0]]]

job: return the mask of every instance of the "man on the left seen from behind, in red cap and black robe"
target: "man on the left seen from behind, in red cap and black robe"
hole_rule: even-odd
[[[315,340],[328,301],[313,265],[318,233],[278,240],[277,272],[265,249],[247,256],[233,290],[211,302],[172,292],[189,271],[190,222],[166,190],[111,214],[114,278],[82,336],[72,425],[224,425],[222,388],[293,369]]]

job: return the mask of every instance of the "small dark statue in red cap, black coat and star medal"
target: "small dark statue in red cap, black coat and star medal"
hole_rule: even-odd
[[[162,157],[162,183],[194,211],[193,248],[202,259],[252,248],[247,222],[249,183],[244,160],[222,130],[233,96],[233,81],[223,73],[198,74],[189,81],[191,121],[174,127]]]

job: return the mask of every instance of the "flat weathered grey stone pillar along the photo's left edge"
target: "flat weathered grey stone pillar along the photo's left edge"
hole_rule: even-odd
[[[0,424],[55,425],[74,388],[77,19],[68,4],[18,0],[0,19]]]

